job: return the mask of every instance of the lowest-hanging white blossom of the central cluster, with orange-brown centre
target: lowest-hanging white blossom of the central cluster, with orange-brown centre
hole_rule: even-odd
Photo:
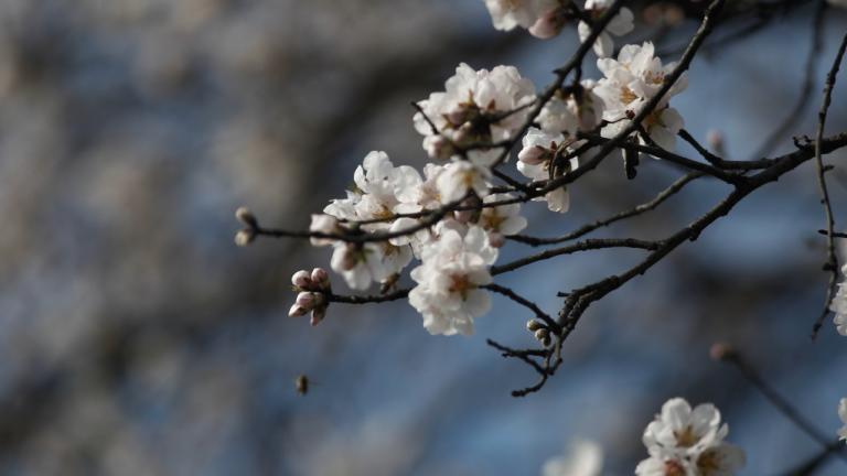
[[[474,317],[491,307],[480,286],[491,283],[489,267],[497,250],[482,228],[471,226],[462,236],[454,226],[439,230],[439,238],[422,249],[422,263],[411,271],[418,285],[409,292],[409,303],[422,314],[430,334],[470,335]]]

